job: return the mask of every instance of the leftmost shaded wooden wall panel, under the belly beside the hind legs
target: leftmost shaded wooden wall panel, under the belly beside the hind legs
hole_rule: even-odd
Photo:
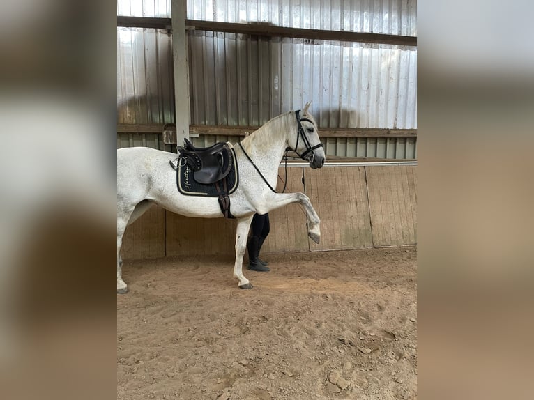
[[[123,259],[155,259],[165,256],[165,211],[152,206],[128,226],[123,236]]]

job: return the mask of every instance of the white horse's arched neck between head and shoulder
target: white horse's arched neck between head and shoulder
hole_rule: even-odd
[[[291,113],[282,114],[265,123],[241,144],[254,162],[273,162],[277,166],[282,161],[290,130]]]

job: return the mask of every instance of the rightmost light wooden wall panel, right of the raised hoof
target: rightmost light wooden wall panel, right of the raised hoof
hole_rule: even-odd
[[[365,167],[375,247],[417,243],[415,167]]]

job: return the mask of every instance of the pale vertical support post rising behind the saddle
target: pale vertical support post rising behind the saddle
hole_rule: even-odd
[[[172,0],[172,58],[174,61],[174,101],[176,113],[176,139],[179,145],[189,139],[189,67],[188,40],[185,34],[187,1]]]

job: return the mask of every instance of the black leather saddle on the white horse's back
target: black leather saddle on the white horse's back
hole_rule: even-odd
[[[179,146],[178,152],[194,171],[193,178],[198,183],[215,183],[229,174],[233,159],[227,143],[199,148],[194,147],[188,139],[184,141],[185,146]]]

